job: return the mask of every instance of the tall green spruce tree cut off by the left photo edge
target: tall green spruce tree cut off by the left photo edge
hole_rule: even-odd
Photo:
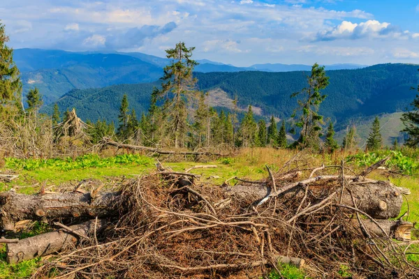
[[[8,40],[0,20],[0,109],[1,105],[20,100],[22,91],[20,72],[13,61],[13,49],[6,45]]]

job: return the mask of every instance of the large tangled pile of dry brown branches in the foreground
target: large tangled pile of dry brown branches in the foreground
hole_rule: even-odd
[[[101,210],[86,216],[96,220],[81,234],[64,226],[76,246],[34,277],[259,278],[279,263],[314,278],[339,278],[342,265],[354,278],[419,277],[395,241],[410,241],[413,225],[389,220],[407,191],[388,181],[350,176],[343,166],[277,174],[267,167],[267,179],[205,186],[197,174],[157,167],[111,198],[94,197],[90,206]],[[331,168],[337,173],[318,174]]]

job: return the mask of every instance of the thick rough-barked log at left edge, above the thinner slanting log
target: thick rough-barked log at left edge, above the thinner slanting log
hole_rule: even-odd
[[[46,195],[0,193],[0,228],[13,231],[15,223],[28,219],[113,216],[123,210],[123,206],[115,206],[121,197],[121,192],[104,193],[94,198],[90,193],[77,191]]]

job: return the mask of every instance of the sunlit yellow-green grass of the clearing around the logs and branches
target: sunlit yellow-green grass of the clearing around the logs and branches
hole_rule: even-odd
[[[355,172],[360,172],[365,168],[365,165],[372,163],[379,158],[386,156],[388,151],[377,153],[376,155],[365,155],[360,153],[351,157],[347,164],[355,169]],[[316,167],[325,163],[325,165],[340,165],[341,160],[348,159],[348,153],[335,153],[333,155],[314,154],[305,156],[304,160],[300,161],[301,167]],[[353,154],[352,154],[353,155]],[[265,165],[268,165],[272,171],[278,171],[286,161],[295,156],[295,151],[277,150],[267,148],[257,149],[242,149],[240,153],[232,158],[221,158],[219,160],[212,160],[205,163],[196,163],[190,161],[182,162],[163,162],[166,167],[171,167],[175,171],[182,172],[194,165],[217,165],[217,168],[194,169],[193,173],[202,175],[201,182],[210,183],[213,185],[221,185],[226,179],[234,176],[248,179],[262,179],[267,176]],[[354,159],[355,158],[355,159]],[[409,172],[411,176],[399,176],[390,178],[392,183],[397,186],[402,186],[411,189],[409,198],[409,221],[419,221],[419,174],[418,174],[418,151],[403,151],[398,154],[399,159],[392,160],[392,167],[398,165],[405,165],[405,169],[401,167],[404,172]],[[125,154],[114,157],[102,158],[98,155],[88,155],[75,158],[64,159],[10,159],[6,158],[5,165],[0,169],[1,172],[13,172],[19,174],[18,179],[11,183],[1,183],[0,191],[10,190],[15,188],[18,193],[36,193],[41,188],[41,183],[46,181],[47,187],[56,190],[68,184],[75,185],[82,179],[97,179],[105,181],[110,177],[126,176],[128,178],[135,177],[149,172],[154,172],[154,158],[145,156]],[[218,176],[216,179],[209,179],[210,176]],[[387,180],[387,177],[373,172],[370,176],[372,179]],[[234,183],[235,181],[230,181]],[[88,190],[88,189],[86,189]],[[408,208],[406,202],[402,206],[402,213]],[[43,223],[35,223],[29,232],[22,233],[22,238],[41,234],[45,232],[47,225]],[[412,254],[408,255],[411,262],[418,264],[419,255],[414,254],[419,252],[419,246],[412,246],[409,251]],[[20,264],[9,265],[5,262],[6,252],[4,246],[0,246],[0,278],[27,278],[34,272],[37,266],[41,263],[39,259],[32,259],[30,261],[22,262]],[[270,279],[277,278],[304,278],[304,273],[293,266],[281,265],[279,266],[281,275],[276,271],[272,271]],[[342,278],[347,275],[348,271],[344,266],[341,266]]]

